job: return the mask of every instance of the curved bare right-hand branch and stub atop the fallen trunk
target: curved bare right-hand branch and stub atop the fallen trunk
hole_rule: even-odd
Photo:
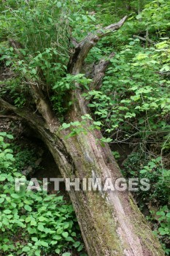
[[[99,39],[101,39],[102,37],[106,37],[108,34],[111,34],[114,31],[117,31],[117,29],[120,29],[120,27],[123,26],[127,18],[128,16],[125,16],[118,23],[104,27],[103,29],[98,29],[93,34],[88,34],[88,36],[85,37],[85,39],[83,39],[77,45],[77,48],[75,48],[74,54],[72,55],[67,67],[68,72],[71,73],[72,75],[79,74],[82,69],[83,61],[85,61],[85,58],[88,55],[90,49],[96,45]],[[113,56],[113,53],[111,53],[111,55],[109,56],[109,59],[111,59],[112,56]],[[93,85],[95,84],[99,85],[101,79],[103,78],[104,72],[107,69],[108,64],[109,64],[109,61],[106,59],[101,60],[98,63],[96,69],[94,70],[95,75],[93,78]],[[76,84],[75,86],[78,87],[79,85]],[[72,120],[77,120],[81,118],[81,116],[88,113],[88,110],[85,104],[85,99],[83,99],[80,89],[77,88],[77,90],[72,91],[71,99],[74,102],[74,104],[72,105],[72,109],[69,112],[69,116],[70,118],[72,118]]]

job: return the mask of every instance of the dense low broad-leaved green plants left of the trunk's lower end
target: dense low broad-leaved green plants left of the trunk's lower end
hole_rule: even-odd
[[[0,134],[0,252],[9,255],[70,255],[70,249],[82,251],[80,230],[72,205],[61,195],[27,190],[26,177],[18,172],[18,155],[12,154],[6,132]],[[23,152],[24,153],[24,152]],[[15,191],[15,178],[25,185]]]

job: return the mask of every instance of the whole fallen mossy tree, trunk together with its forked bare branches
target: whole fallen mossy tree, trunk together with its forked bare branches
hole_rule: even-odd
[[[83,61],[88,52],[101,37],[119,29],[126,17],[119,23],[89,34],[82,42],[76,44],[74,54],[69,61],[68,72],[72,75],[80,73]],[[113,57],[113,54],[109,58]],[[92,86],[98,86],[109,64],[109,58],[101,60],[94,69]],[[80,85],[72,91],[74,105],[69,111],[68,119],[80,120],[88,113],[85,99],[81,95]],[[69,131],[61,130],[49,103],[43,96],[40,86],[30,84],[30,93],[38,111],[33,113],[28,109],[18,109],[4,99],[0,99],[1,107],[12,110],[24,118],[28,124],[39,133],[50,152],[63,178],[93,178],[100,177],[102,184],[106,178],[121,177],[120,170],[112,156],[109,146],[102,147],[96,139],[102,137],[100,131],[81,133],[66,139]],[[37,115],[39,112],[39,115]],[[90,125],[90,123],[89,123]],[[81,184],[82,185],[82,184]],[[76,191],[72,187],[69,195],[77,214],[82,231],[82,237],[89,256],[161,256],[164,255],[158,239],[153,236],[144,216],[134,202],[131,193],[110,191]]]

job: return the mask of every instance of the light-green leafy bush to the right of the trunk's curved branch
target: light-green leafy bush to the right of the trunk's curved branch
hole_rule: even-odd
[[[97,120],[108,126],[106,132],[121,127],[117,142],[131,136],[147,140],[153,132],[168,132],[164,117],[169,112],[169,80],[159,75],[169,67],[167,47],[167,42],[161,42],[155,48],[144,49],[138,39],[131,39],[111,60],[101,91],[85,94]]]

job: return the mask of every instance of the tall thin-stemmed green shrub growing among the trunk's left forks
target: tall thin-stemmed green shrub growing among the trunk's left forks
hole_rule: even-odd
[[[65,65],[69,59],[68,4],[51,0],[8,0],[2,3],[0,38],[6,39],[4,34],[7,34],[19,47],[14,50],[13,44],[13,48],[5,45],[0,52],[0,61],[5,62],[15,72],[15,76],[20,76],[22,92],[18,91],[14,83],[9,88],[12,89],[15,105],[20,107],[25,105],[24,99],[29,101],[26,94],[29,80],[30,83],[39,83],[42,88],[45,85],[48,97],[53,102],[55,99],[54,108],[58,106],[62,112],[63,92],[58,94],[58,91],[53,91],[53,86],[66,75]]]

